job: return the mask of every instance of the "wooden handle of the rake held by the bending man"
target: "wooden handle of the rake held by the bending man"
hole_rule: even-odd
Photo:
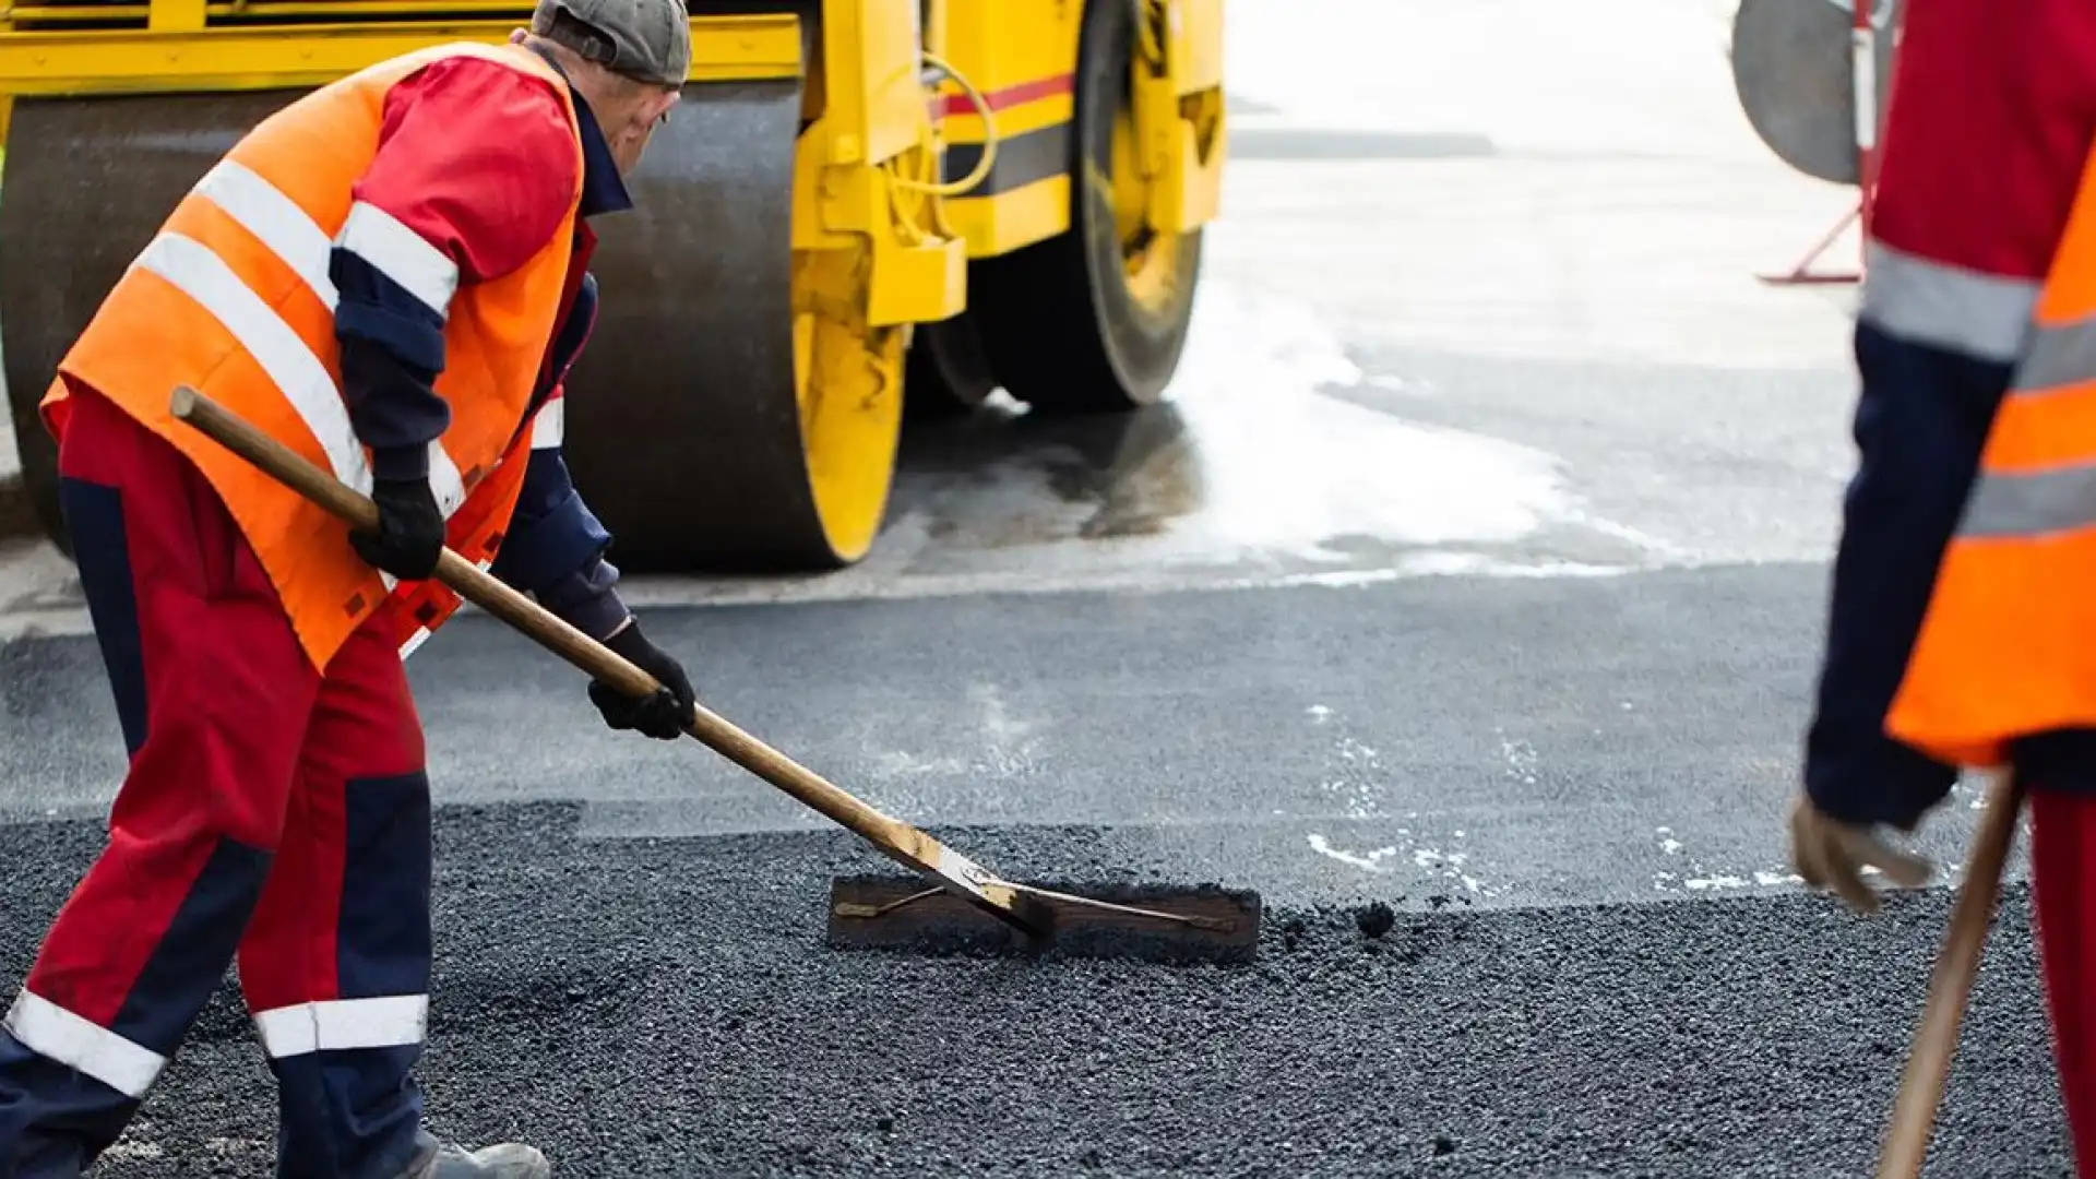
[[[241,415],[218,405],[201,392],[180,386],[174,390],[170,413],[210,436],[228,451],[241,455],[258,470],[312,499],[321,508],[346,520],[352,529],[375,529],[379,510],[371,499],[352,487],[323,472],[291,451],[277,438],[241,420]],[[455,590],[467,602],[524,631],[553,655],[581,667],[591,678],[602,680],[631,696],[652,696],[662,688],[654,676],[641,671],[602,642],[574,629],[551,610],[511,590],[501,579],[476,569],[449,548],[436,560],[436,579]],[[851,793],[828,783],[813,770],[796,764],[778,749],[742,732],[727,720],[715,715],[704,705],[692,709],[685,732],[736,762],[744,770],[801,799],[826,814],[834,822],[864,835],[891,858],[918,871],[939,871],[939,843],[922,831],[880,814]]]

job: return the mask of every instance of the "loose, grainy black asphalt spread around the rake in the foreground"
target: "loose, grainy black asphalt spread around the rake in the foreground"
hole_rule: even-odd
[[[840,952],[828,875],[874,866],[843,837],[576,818],[440,812],[423,1072],[438,1131],[560,1175],[1863,1175],[1947,910],[1274,906],[1249,967]],[[1102,831],[970,839],[1130,862]],[[0,827],[10,976],[94,843]],[[2012,887],[1933,1175],[2071,1175],[2033,978]],[[272,1110],[222,990],[101,1173],[262,1175]]]

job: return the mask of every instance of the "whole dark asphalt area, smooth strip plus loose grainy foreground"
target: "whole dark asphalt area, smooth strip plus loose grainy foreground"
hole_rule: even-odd
[[[606,1177],[1868,1175],[1951,894],[1865,921],[1767,877],[1821,590],[648,615],[732,720],[1000,871],[1262,889],[1251,967],[832,950],[828,879],[885,860],[597,730],[572,671],[463,619],[411,663],[446,803],[434,1124]],[[0,648],[8,980],[96,845],[105,694],[86,640]],[[1928,848],[1968,831],[1960,803]],[[2025,906],[1933,1175],[2069,1175]],[[226,990],[103,1173],[264,1175],[270,1135]]]

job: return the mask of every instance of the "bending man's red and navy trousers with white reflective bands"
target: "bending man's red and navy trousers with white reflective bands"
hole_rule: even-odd
[[[396,1175],[421,1114],[432,869],[394,627],[367,617],[316,671],[201,472],[92,390],[59,472],[130,762],[111,839],[8,1001],[0,1160],[78,1175],[67,1156],[119,1137],[237,961],[287,1173]]]

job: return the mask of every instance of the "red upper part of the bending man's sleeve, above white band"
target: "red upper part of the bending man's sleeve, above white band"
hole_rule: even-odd
[[[386,94],[379,151],[352,195],[444,252],[459,281],[516,271],[574,201],[583,153],[553,86],[478,57]]]

